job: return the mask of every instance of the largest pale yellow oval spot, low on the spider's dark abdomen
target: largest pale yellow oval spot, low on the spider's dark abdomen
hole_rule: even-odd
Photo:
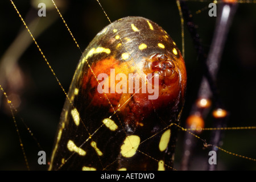
[[[141,138],[137,135],[127,136],[123,141],[121,146],[121,154],[125,158],[130,158],[136,154],[136,151],[139,147],[139,143],[141,142]]]

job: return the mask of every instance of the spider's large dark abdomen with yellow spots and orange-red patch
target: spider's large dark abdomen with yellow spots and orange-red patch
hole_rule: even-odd
[[[109,24],[77,66],[49,169],[172,169],[171,123],[186,81],[180,51],[158,24],[141,17]]]

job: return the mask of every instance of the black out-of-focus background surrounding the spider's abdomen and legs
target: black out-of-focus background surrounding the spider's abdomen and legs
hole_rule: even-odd
[[[34,2],[36,2],[34,0]],[[44,2],[43,0],[40,2]],[[57,2],[57,1],[56,1]],[[75,36],[81,51],[89,44],[90,40],[109,24],[97,1],[60,1],[64,9],[61,9],[72,34]],[[31,7],[30,1],[14,1],[20,14],[26,23],[38,17],[37,9]],[[158,23],[171,35],[181,50],[181,28],[180,16],[175,1],[102,1],[102,6],[110,20],[125,16],[144,16]],[[208,4],[210,2],[188,2],[195,23],[206,51],[210,47],[216,18],[208,16]],[[65,4],[65,6],[64,6]],[[240,4],[230,32],[228,34],[221,68],[218,73],[218,88],[222,101],[230,113],[228,126],[255,126],[256,121],[256,5],[253,3]],[[196,14],[197,10],[204,10]],[[9,1],[0,2],[0,56],[5,53],[16,36],[24,30],[24,25]],[[71,83],[76,65],[80,59],[81,52],[73,42],[71,35],[65,28],[56,10],[49,10],[47,5],[47,16],[40,18],[38,27],[43,27],[45,22],[53,17],[57,20],[36,38],[40,48],[51,64],[66,92]],[[35,30],[38,31],[38,30]],[[34,32],[32,32],[34,34]],[[29,36],[27,34],[27,36]],[[184,126],[185,118],[188,116],[192,102],[196,98],[196,92],[200,83],[200,69],[191,36],[185,28],[185,63],[188,72],[188,88],[181,125]],[[53,141],[56,134],[57,123],[63,104],[65,94],[57,84],[55,77],[47,67],[42,55],[32,43],[18,59],[18,65],[24,75],[24,84],[17,93],[22,101],[15,115],[18,122],[19,133],[23,141],[26,156],[30,168],[33,170],[44,170],[47,166],[39,166],[37,153],[40,148],[37,142],[27,132],[27,127],[32,131],[40,146],[46,151],[49,161]],[[11,83],[0,83],[7,94],[13,92]],[[1,93],[2,94],[2,93]],[[15,130],[10,109],[6,100],[1,96],[0,115],[0,169],[2,170],[26,170],[19,138]],[[27,127],[23,125],[26,123]],[[212,126],[209,115],[205,121],[206,127]],[[177,142],[176,164],[179,169],[180,154],[182,151],[182,139],[184,133],[180,132]],[[204,132],[203,138],[207,138],[208,131]],[[256,158],[255,130],[232,130],[225,131],[224,145],[228,151]],[[196,146],[196,156],[192,159],[190,169],[202,170],[208,152],[203,150],[202,143]],[[233,155],[220,152],[218,156],[218,168],[220,170],[255,170],[256,163],[241,159]],[[206,161],[207,162],[207,161]]]

